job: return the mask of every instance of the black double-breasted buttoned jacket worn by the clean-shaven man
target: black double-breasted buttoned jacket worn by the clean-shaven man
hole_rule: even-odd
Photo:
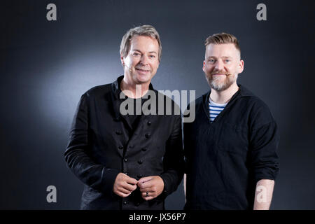
[[[122,79],[82,95],[64,157],[85,183],[81,209],[164,209],[165,197],[176,190],[183,176],[181,115],[174,115],[172,101],[172,115],[142,115],[132,130],[119,111]],[[160,93],[154,92],[158,100]],[[164,191],[148,202],[138,188],[129,197],[119,197],[113,193],[113,183],[120,172],[137,180],[161,176]]]

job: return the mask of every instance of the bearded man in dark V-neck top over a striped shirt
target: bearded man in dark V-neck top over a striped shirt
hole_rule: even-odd
[[[183,127],[185,208],[269,209],[279,171],[276,122],[262,100],[237,85],[244,69],[237,38],[214,34],[205,45],[211,90],[196,99],[196,119]]]

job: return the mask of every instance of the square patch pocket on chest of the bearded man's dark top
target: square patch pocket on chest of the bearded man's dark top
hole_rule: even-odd
[[[223,123],[218,129],[218,148],[220,151],[246,155],[248,151],[248,131],[246,127]]]

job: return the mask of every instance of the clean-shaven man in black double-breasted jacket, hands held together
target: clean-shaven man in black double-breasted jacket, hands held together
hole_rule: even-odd
[[[120,44],[124,75],[82,95],[64,153],[71,171],[85,184],[81,209],[165,209],[165,197],[181,183],[179,106],[172,101],[172,109],[164,108],[169,115],[155,111],[167,101],[151,84],[161,55],[154,27],[130,29]],[[148,102],[152,113],[142,110]]]

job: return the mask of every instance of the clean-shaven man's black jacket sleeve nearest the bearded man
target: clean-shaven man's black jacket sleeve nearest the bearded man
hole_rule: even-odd
[[[166,197],[177,189],[183,179],[184,160],[180,115],[176,115],[172,134],[167,140],[163,167],[165,172],[160,176],[164,181],[163,194]]]

